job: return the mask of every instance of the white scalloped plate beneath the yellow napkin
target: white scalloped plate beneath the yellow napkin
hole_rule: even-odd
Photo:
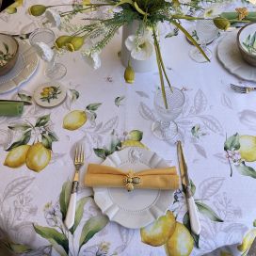
[[[168,164],[155,152],[130,147],[107,156],[103,165],[133,169],[167,168]],[[127,192],[124,188],[95,187],[94,200],[110,220],[120,225],[139,229],[163,216],[173,202],[173,190],[135,189]]]

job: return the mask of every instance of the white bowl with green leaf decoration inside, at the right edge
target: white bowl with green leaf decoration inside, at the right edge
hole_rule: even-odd
[[[236,41],[244,60],[256,67],[256,23],[243,26],[237,33]]]

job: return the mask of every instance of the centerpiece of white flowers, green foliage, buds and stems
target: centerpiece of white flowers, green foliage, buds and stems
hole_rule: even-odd
[[[131,52],[131,56],[137,60],[146,60],[155,52],[164,104],[166,108],[168,108],[165,83],[168,84],[170,89],[171,85],[159,45],[158,24],[167,22],[174,25],[177,29],[182,31],[199,49],[200,53],[209,60],[197,41],[194,40],[181,24],[181,20],[204,19],[185,14],[187,10],[194,11],[202,9],[200,7],[201,2],[203,1],[105,0],[104,2],[90,3],[86,0],[82,3],[72,5],[35,5],[29,8],[29,13],[33,16],[45,14],[48,20],[47,23],[60,27],[62,22],[71,24],[72,18],[77,13],[85,14],[87,17],[83,18],[84,24],[76,25],[75,29],[72,29],[72,35],[63,35],[56,39],[56,48],[64,48],[72,52],[82,48],[83,56],[95,69],[100,66],[99,54],[109,40],[114,37],[119,28],[123,25],[138,21],[135,35],[129,36],[125,40],[125,45]],[[219,0],[210,2],[219,2]],[[70,6],[72,9],[62,12],[56,11],[55,9],[60,6]],[[92,15],[87,15],[88,13]],[[227,29],[230,25],[229,20],[223,17],[215,17],[214,22],[218,28],[222,29]],[[134,77],[135,73],[133,67],[128,63],[124,78],[126,82],[133,83]]]

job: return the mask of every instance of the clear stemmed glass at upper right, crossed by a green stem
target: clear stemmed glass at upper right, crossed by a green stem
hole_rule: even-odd
[[[205,55],[211,59],[213,54],[211,50],[206,46],[206,44],[214,40],[218,35],[218,29],[216,28],[216,25],[212,20],[198,20],[196,24],[196,31],[200,48],[205,53]],[[202,56],[199,49],[196,47],[193,47],[190,50],[189,56],[196,62],[207,62],[207,59]]]

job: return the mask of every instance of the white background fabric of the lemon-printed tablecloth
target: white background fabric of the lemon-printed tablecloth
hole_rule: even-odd
[[[27,24],[35,23],[25,13],[27,2],[15,14],[0,14],[1,31],[19,33]],[[29,2],[29,5],[40,3]],[[56,3],[48,2],[49,5],[51,2]],[[60,32],[56,31],[57,33]],[[235,93],[229,85],[241,83],[253,86],[255,83],[241,81],[220,64],[216,58],[216,46],[223,37],[225,34],[221,34],[209,45],[213,58],[210,63],[203,64],[194,62],[188,56],[193,46],[184,39],[182,33],[162,40],[161,44],[171,84],[183,88],[184,91],[184,110],[176,121],[184,141],[190,178],[196,188],[194,197],[204,209],[200,211],[202,231],[200,237],[196,238],[199,248],[195,247],[191,255],[242,255],[237,246],[244,235],[255,235],[255,162],[246,161],[245,166],[239,168],[230,158],[230,166],[224,151],[226,137],[233,136],[232,139],[235,140],[235,135],[238,134],[246,139],[246,135],[255,136],[256,128],[255,94]],[[58,245],[54,239],[51,240],[54,245],[52,248],[49,241],[43,238],[43,234],[35,232],[33,225],[40,226],[41,230],[45,228],[44,231],[46,227],[51,228],[47,231],[52,233],[61,232],[61,229],[63,231],[60,213],[63,205],[61,202],[59,204],[59,200],[63,200],[63,186],[72,180],[72,154],[77,141],[83,141],[86,145],[87,164],[101,163],[103,159],[96,155],[95,149],[108,148],[113,131],[120,141],[124,141],[130,131],[139,130],[143,132],[140,141],[142,144],[157,152],[169,165],[177,166],[176,147],[152,135],[152,121],[158,119],[153,106],[153,94],[159,86],[158,73],[136,73],[134,85],[125,84],[124,68],[118,56],[120,39],[119,34],[105,47],[101,54],[102,67],[96,71],[84,62],[79,53],[68,53],[57,58],[68,69],[67,75],[60,81],[68,88],[68,97],[63,104],[47,109],[33,103],[24,107],[21,118],[0,118],[0,241],[8,240],[33,248],[30,254],[24,255],[41,255],[42,252],[46,255],[65,255],[59,244],[67,238],[60,239]],[[35,88],[47,81],[43,75],[45,67],[45,63],[40,60],[37,71],[27,82],[0,95],[0,99],[19,99],[21,94],[31,96]],[[120,102],[116,100],[118,97]],[[65,115],[72,110],[85,110],[89,104],[98,103],[101,105],[95,110],[95,121],[88,120],[75,131],[63,129]],[[35,125],[37,120],[49,114],[47,127],[58,137],[53,142],[49,165],[38,173],[25,165],[20,168],[4,166],[8,154],[7,144],[23,135],[23,131],[11,130],[8,127],[24,122]],[[40,128],[34,130],[32,137],[37,136],[37,133],[40,133]],[[253,139],[250,140],[252,144]],[[33,138],[29,144],[32,143]],[[250,146],[254,151],[255,142]],[[249,170],[246,167],[250,167]],[[86,168],[83,168],[81,184],[85,171]],[[248,173],[251,175],[248,176]],[[79,200],[84,199],[80,201],[84,214],[73,234],[63,231],[65,235],[69,235],[70,255],[73,256],[78,255],[80,232],[85,223],[92,217],[96,216],[95,219],[99,221],[102,217],[93,200],[85,200],[90,194],[90,189],[80,188],[78,197]],[[174,203],[169,209],[178,221],[183,222],[187,209],[182,190],[175,192]],[[21,251],[24,248],[16,247],[16,250]],[[138,230],[129,230],[109,222],[102,231],[88,240],[79,255],[160,256],[166,255],[166,252],[163,246],[151,247],[142,243]]]

